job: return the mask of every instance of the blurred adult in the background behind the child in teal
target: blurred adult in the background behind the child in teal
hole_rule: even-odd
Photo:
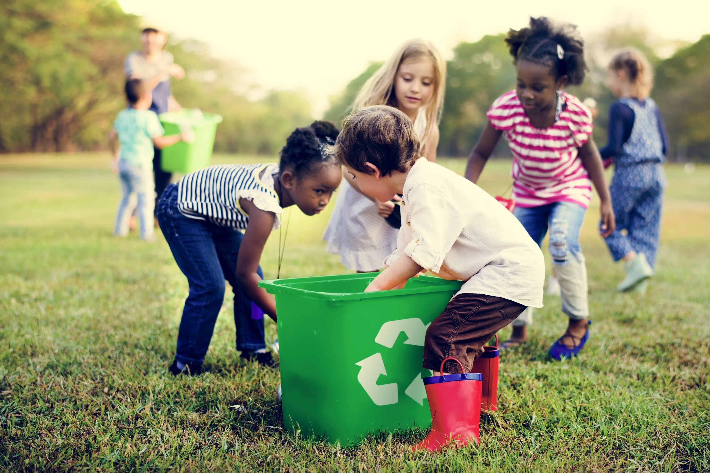
[[[182,79],[185,69],[175,64],[173,55],[163,50],[168,41],[168,35],[157,28],[145,28],[141,32],[140,51],[131,52],[126,56],[126,79],[141,79],[146,89],[153,93],[153,103],[150,110],[155,113],[180,110],[180,104],[170,91],[170,77]],[[170,184],[173,174],[163,171],[160,166],[161,151],[155,148],[153,155],[153,177],[155,179],[155,209],[158,208],[158,199]]]

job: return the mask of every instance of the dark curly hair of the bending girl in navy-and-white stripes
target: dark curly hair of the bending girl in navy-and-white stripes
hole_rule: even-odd
[[[314,121],[310,126],[296,128],[281,150],[281,171],[289,169],[300,178],[314,174],[326,162],[337,164],[335,157],[325,152],[325,147],[334,145],[339,133],[329,121]]]

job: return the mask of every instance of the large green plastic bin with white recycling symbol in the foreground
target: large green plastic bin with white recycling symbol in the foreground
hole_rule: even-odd
[[[420,276],[405,289],[365,294],[375,276],[259,283],[276,300],[290,430],[348,446],[378,430],[431,426],[424,337],[463,283]]]

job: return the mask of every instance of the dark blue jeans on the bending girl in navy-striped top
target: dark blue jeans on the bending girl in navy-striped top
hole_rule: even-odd
[[[158,223],[175,262],[190,285],[182,309],[175,359],[202,363],[212,339],[214,323],[224,301],[224,281],[234,293],[236,349],[266,348],[263,318],[251,317],[251,299],[236,279],[236,258],[243,234],[209,221],[188,218],[178,210],[178,186],[170,184],[158,203]],[[263,277],[261,267],[257,269]]]

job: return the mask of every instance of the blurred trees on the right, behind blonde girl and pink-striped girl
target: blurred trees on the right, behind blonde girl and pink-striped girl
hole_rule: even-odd
[[[447,62],[439,155],[469,155],[486,125],[486,111],[493,100],[515,87],[515,69],[504,38],[503,34],[486,35],[475,43],[462,42],[454,48],[454,57]],[[656,40],[643,28],[621,25],[594,38],[586,38],[589,73],[584,84],[569,88],[569,92],[581,100],[587,97],[596,100],[599,116],[594,121],[594,139],[597,145],[606,143],[608,107],[615,100],[606,87],[606,66],[613,52],[624,46],[642,50],[655,68],[652,97],[661,109],[670,135],[668,159],[710,160],[710,95],[703,86],[710,82],[710,35],[692,45],[684,45]],[[674,53],[661,59],[657,51],[668,48]],[[380,64],[370,65],[341,94],[332,97],[324,118],[342,121],[357,91]],[[510,156],[504,141],[498,143],[498,156]]]

